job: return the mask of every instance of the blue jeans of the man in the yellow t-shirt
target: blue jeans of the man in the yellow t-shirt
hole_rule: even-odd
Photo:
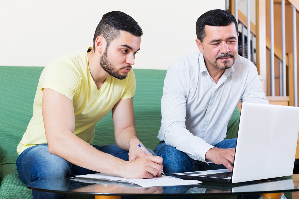
[[[95,146],[99,151],[111,154],[122,160],[129,160],[128,151],[120,149],[116,145]],[[156,155],[152,152],[153,155]],[[17,171],[21,180],[27,184],[36,180],[56,179],[63,177],[74,177],[75,175],[85,175],[98,173],[74,165],[62,157],[51,154],[48,150],[48,145],[40,144],[32,146],[23,151],[17,161]],[[66,198],[65,194],[56,194],[50,192],[32,191],[33,198]]]

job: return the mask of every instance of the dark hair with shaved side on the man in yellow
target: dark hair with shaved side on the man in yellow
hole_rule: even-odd
[[[106,39],[108,47],[110,42],[120,34],[120,30],[138,37],[143,34],[143,30],[131,16],[120,11],[112,11],[103,15],[94,32],[93,42],[102,35]],[[95,44],[93,44],[93,49],[95,50]]]

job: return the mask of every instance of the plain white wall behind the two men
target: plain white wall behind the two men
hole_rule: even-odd
[[[9,0],[0,4],[0,65],[45,66],[65,52],[93,45],[103,14],[123,11],[144,35],[134,68],[167,69],[171,62],[196,52],[195,23],[223,0]]]

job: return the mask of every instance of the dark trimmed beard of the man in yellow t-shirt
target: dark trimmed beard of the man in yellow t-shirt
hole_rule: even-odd
[[[120,68],[119,70],[115,69],[115,67],[113,66],[113,64],[111,62],[109,62],[108,60],[108,56],[107,56],[107,47],[103,53],[103,55],[100,58],[100,65],[101,67],[112,77],[115,77],[117,79],[125,79],[127,77],[127,73],[126,74],[120,74],[120,69],[123,68],[132,68],[131,65],[128,66],[124,66],[122,68]]]

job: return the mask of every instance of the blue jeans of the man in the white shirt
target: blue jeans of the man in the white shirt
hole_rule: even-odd
[[[223,140],[215,147],[220,149],[236,148],[237,138]],[[163,158],[164,173],[183,173],[193,171],[205,171],[213,169],[226,169],[223,165],[215,163],[207,164],[198,160],[193,160],[186,153],[177,150],[173,146],[168,146],[165,142],[158,144],[154,152]]]

